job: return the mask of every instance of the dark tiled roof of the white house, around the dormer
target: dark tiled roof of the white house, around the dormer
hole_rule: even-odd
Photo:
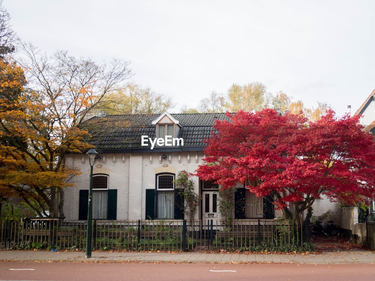
[[[171,114],[179,121],[178,138],[184,139],[184,146],[205,146],[203,140],[211,136],[214,120],[230,120],[225,113]],[[103,128],[89,140],[96,149],[147,148],[141,146],[141,136],[156,137],[156,120],[160,114],[107,115],[93,117],[89,121]],[[110,128],[110,129],[108,129]],[[107,131],[107,133],[103,133]]]

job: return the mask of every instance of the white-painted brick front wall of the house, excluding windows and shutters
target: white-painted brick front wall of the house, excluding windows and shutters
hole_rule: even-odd
[[[200,152],[165,153],[166,158],[161,159],[159,153],[133,153],[133,154],[101,154],[101,159],[96,160],[95,166],[101,165],[109,169],[109,188],[117,189],[117,219],[138,220],[145,218],[146,189],[155,188],[154,169],[163,167],[175,168],[176,174],[181,170],[194,173],[204,154]],[[151,158],[150,158],[151,156]],[[170,156],[170,158],[169,158]],[[72,179],[76,186],[65,190],[64,213],[68,220],[78,219],[79,190],[89,189],[89,156],[68,155],[66,164],[81,170],[82,174]],[[99,166],[98,166],[99,167]],[[195,192],[199,193],[199,179],[192,177],[195,183]],[[242,187],[240,184],[239,187]],[[334,203],[329,200],[317,200],[314,203],[314,215],[321,215],[328,209],[333,209]],[[281,210],[275,211],[275,216],[282,216]],[[200,209],[196,214],[200,218]]]

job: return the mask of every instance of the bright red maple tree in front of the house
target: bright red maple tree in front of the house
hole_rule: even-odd
[[[375,143],[362,132],[359,116],[338,118],[329,110],[309,123],[273,109],[227,116],[231,121],[216,120],[217,133],[206,140],[199,178],[224,189],[241,182],[257,196],[272,195],[284,214],[291,215],[291,203],[296,222],[324,196],[349,204],[374,199]]]

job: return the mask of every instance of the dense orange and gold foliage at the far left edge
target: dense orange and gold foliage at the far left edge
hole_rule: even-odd
[[[40,134],[46,105],[37,103],[39,95],[24,86],[23,69],[0,60],[0,196],[22,197],[37,215],[48,215],[51,190],[70,185],[65,180],[78,171],[52,170],[54,155],[48,155],[51,161],[40,157],[56,140]]]

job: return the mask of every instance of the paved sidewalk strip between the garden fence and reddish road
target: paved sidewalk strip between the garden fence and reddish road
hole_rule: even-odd
[[[0,261],[41,262],[192,262],[192,263],[375,263],[375,252],[369,250],[324,252],[323,254],[204,254],[148,253],[148,252],[93,252],[85,259],[84,252],[0,251]]]

